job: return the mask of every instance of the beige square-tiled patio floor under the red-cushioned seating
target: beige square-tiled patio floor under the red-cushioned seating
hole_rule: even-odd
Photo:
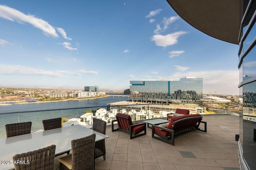
[[[147,135],[130,140],[128,133],[106,128],[106,160],[95,162],[96,170],[238,170],[239,117],[205,115],[207,133],[191,131],[175,138],[175,145]],[[58,170],[55,158],[54,170]]]

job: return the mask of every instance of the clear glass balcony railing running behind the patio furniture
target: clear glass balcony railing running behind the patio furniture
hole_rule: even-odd
[[[32,104],[33,105],[33,104]],[[93,107],[76,107],[65,109],[48,110],[27,110],[0,113],[0,138],[6,137],[5,125],[18,122],[32,122],[32,132],[43,129],[42,120],[62,117],[63,127],[81,124],[86,127],[92,127],[92,119],[98,118],[111,125],[115,119],[116,113],[126,113],[132,118],[132,121],[143,121],[145,119],[166,118],[168,113],[174,113],[177,108],[189,109],[191,114],[239,114],[240,104],[236,103],[182,103],[182,104],[133,104],[133,105],[108,105]],[[246,111],[247,110],[247,111]],[[245,107],[244,113],[248,112],[248,119],[256,115],[256,110],[251,107]]]

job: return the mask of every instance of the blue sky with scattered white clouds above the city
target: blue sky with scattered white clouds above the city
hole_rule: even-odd
[[[239,94],[238,45],[182,20],[165,0],[0,3],[0,86],[124,90],[130,80],[203,78]]]

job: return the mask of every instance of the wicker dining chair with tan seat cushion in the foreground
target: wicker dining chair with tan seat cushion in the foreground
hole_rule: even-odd
[[[60,170],[93,170],[96,135],[71,141],[72,154],[59,158]]]

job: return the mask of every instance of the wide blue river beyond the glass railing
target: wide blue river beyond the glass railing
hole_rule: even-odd
[[[96,110],[98,106],[106,106],[108,103],[120,102],[129,100],[128,97],[106,97],[96,98],[87,100],[68,100],[60,102],[46,102],[46,103],[29,103],[29,104],[14,104],[8,106],[0,106],[0,113],[6,112],[19,112],[19,111],[34,111],[34,110],[48,110],[48,109],[60,109],[57,111],[39,111],[39,112],[28,112],[28,113],[13,113],[0,115],[0,138],[6,137],[5,125],[10,123],[18,122],[32,122],[31,130],[37,130],[43,128],[42,120],[52,119],[57,117],[62,118],[75,118],[80,117],[83,111],[90,108],[84,109],[66,109],[66,108],[77,108],[77,107],[91,107]],[[104,107],[106,108],[106,107]],[[65,109],[65,110],[63,110]]]

